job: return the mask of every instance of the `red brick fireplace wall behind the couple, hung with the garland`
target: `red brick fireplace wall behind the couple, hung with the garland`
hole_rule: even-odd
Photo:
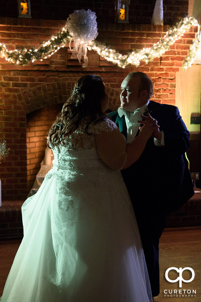
[[[10,50],[21,46],[29,48],[35,45],[37,47],[44,40],[49,39],[51,34],[60,31],[64,24],[65,21],[58,20],[1,17],[0,42],[5,43]],[[124,54],[128,50],[152,46],[153,43],[158,42],[160,37],[164,36],[168,25],[109,24],[105,22],[98,24],[98,28],[97,40],[110,43],[111,47]],[[63,103],[74,82],[82,75],[90,73],[103,76],[110,94],[112,110],[118,107],[121,82],[131,71],[143,71],[152,78],[154,83],[152,100],[174,105],[175,75],[184,56],[187,55],[195,31],[196,28],[191,28],[182,39],[171,45],[170,51],[166,52],[164,56],[154,59],[147,65],[141,62],[138,68],[131,65],[125,69],[119,68],[104,58],[100,58],[96,52],[89,51],[89,64],[87,68],[83,69],[78,60],[70,59],[68,45],[50,59],[43,60],[43,62],[35,61],[27,66],[17,66],[0,58],[0,137],[5,138],[10,148],[6,161],[0,164],[3,200],[23,200],[27,196],[26,138],[28,137],[26,137],[26,121],[30,121],[30,115],[26,117],[26,114],[31,114],[46,106]],[[29,124],[28,126],[43,127],[47,125],[33,124],[31,126]],[[41,142],[42,140],[38,141],[38,143]],[[36,142],[29,140],[28,143]],[[33,146],[33,148],[35,147]],[[37,147],[44,148],[44,146]],[[40,153],[43,150],[37,152]],[[40,153],[38,158],[42,157],[42,153]],[[32,159],[34,161],[34,157]],[[31,169],[39,169],[38,163],[30,163],[30,165],[34,164],[36,166],[32,166]],[[36,172],[37,170],[34,173]],[[29,183],[29,185],[31,184]]]

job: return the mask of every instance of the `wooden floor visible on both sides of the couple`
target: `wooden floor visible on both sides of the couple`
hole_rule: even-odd
[[[21,239],[7,239],[0,242],[0,297],[3,292],[3,287],[11,268],[14,256],[21,243]],[[200,302],[201,301],[201,226],[169,228],[165,229],[159,245],[160,253],[160,289],[161,293],[154,298],[155,302]],[[179,282],[170,283],[165,279],[165,271],[170,267],[185,268],[190,267],[195,271],[195,278],[190,283],[182,282],[182,287],[179,288]],[[178,274],[176,271],[170,271],[169,278],[174,280]],[[189,271],[183,271],[182,277],[185,280],[191,278]],[[188,293],[184,297],[164,296],[164,290],[191,290],[190,297]],[[196,290],[196,296],[191,297],[192,290]],[[181,295],[182,295],[181,294]],[[187,297],[185,295],[187,294]],[[139,301],[143,302],[143,301]]]

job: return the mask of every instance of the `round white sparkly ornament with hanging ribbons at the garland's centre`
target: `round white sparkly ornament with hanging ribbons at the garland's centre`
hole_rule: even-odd
[[[81,56],[84,56],[84,63],[82,67],[88,65],[87,45],[98,35],[96,13],[88,9],[76,10],[73,14],[69,15],[66,22],[66,27],[69,34],[72,36],[69,41],[69,48],[72,51],[71,59],[78,58],[81,62]],[[73,40],[73,49],[71,42]]]

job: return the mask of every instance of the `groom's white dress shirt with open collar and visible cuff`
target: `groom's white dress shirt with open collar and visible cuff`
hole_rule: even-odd
[[[121,108],[118,108],[118,114],[120,117],[125,115],[126,126],[127,126],[127,143],[130,144],[139,130],[140,124],[138,120],[142,120],[141,114],[148,111],[147,105],[149,104],[149,100],[140,108],[136,109],[133,113]],[[163,147],[164,143],[164,133],[162,133],[161,142],[154,138],[155,146]]]

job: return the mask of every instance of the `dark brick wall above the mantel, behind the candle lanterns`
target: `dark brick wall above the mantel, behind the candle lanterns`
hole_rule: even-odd
[[[131,0],[129,5],[129,22],[150,24],[155,0]],[[17,1],[1,0],[1,16],[18,17]],[[31,15],[34,19],[66,20],[75,9],[95,11],[98,23],[114,22],[115,0],[81,1],[81,0],[31,0]],[[188,0],[164,0],[164,24],[173,24],[180,17],[188,15]]]

